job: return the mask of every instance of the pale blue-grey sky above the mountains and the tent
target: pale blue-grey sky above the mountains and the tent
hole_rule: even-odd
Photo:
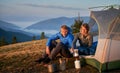
[[[27,27],[57,17],[89,16],[90,7],[120,5],[120,0],[0,0],[0,20]]]

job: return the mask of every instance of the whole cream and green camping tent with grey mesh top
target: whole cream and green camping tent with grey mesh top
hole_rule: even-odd
[[[98,24],[95,55],[85,56],[86,63],[100,72],[120,69],[120,9],[91,11],[90,26]]]

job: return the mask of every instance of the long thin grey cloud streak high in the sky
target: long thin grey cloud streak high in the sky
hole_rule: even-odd
[[[62,9],[62,10],[85,10],[82,8],[64,7],[64,6],[55,6],[55,5],[36,5],[36,4],[20,4],[20,5],[31,6],[31,7]]]

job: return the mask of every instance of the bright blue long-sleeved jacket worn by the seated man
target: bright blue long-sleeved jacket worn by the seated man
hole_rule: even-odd
[[[47,41],[47,43],[46,43],[46,46],[50,46],[51,41],[52,41],[52,40],[57,40],[57,39],[60,39],[60,42],[62,42],[64,45],[68,46],[68,48],[71,48],[71,46],[72,46],[72,41],[73,41],[73,39],[74,39],[74,36],[73,36],[71,33],[68,33],[68,34],[66,35],[66,37],[63,37],[63,36],[61,35],[61,33],[59,32],[59,33],[51,36],[51,37],[48,39],[48,41]]]

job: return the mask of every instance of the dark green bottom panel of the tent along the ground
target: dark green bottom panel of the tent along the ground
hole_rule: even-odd
[[[100,63],[94,58],[86,58],[86,63],[97,68],[99,71],[120,69],[120,60],[106,63]]]

